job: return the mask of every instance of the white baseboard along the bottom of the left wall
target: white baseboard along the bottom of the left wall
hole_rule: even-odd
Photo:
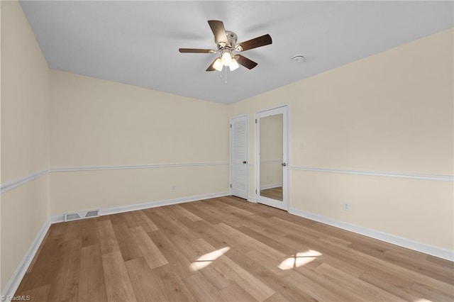
[[[22,258],[21,262],[19,262],[16,270],[13,273],[13,276],[11,276],[8,284],[6,284],[4,291],[1,293],[1,298],[6,296],[12,297],[14,296],[14,293],[16,293],[16,290],[21,284],[23,276],[25,276],[28,267],[33,261],[33,257],[35,257],[36,252],[38,252],[38,248],[40,247],[41,242],[43,242],[45,234],[48,233],[50,224],[50,220],[48,219],[44,223],[43,228],[41,228],[41,230],[38,232],[38,235],[36,235],[35,240],[33,240],[31,246],[28,248],[26,255]]]

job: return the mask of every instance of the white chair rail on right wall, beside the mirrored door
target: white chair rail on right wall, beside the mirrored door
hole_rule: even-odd
[[[356,174],[376,177],[397,177],[406,179],[422,179],[431,181],[454,181],[454,175],[432,175],[432,174],[417,174],[417,173],[401,173],[401,172],[380,172],[380,171],[360,171],[349,169],[328,169],[314,167],[290,167],[291,170],[310,171],[310,172],[326,172],[326,173],[341,173],[341,174]]]

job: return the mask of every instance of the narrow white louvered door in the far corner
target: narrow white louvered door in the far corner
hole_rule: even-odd
[[[248,198],[248,116],[230,120],[230,186],[231,194]]]

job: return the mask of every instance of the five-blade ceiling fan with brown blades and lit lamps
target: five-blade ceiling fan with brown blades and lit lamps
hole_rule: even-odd
[[[243,52],[272,43],[270,35],[262,35],[237,44],[236,40],[238,39],[238,36],[236,33],[226,30],[222,21],[209,20],[208,23],[214,34],[214,42],[216,42],[217,50],[179,48],[179,52],[186,53],[218,53],[219,57],[217,57],[206,69],[207,72],[212,72],[214,70],[221,71],[224,66],[228,66],[233,72],[239,65],[243,65],[248,69],[253,69],[258,65],[256,62],[234,52]]]

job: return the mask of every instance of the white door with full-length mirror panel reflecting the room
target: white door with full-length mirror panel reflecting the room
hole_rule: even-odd
[[[287,106],[255,113],[255,200],[288,211]]]

